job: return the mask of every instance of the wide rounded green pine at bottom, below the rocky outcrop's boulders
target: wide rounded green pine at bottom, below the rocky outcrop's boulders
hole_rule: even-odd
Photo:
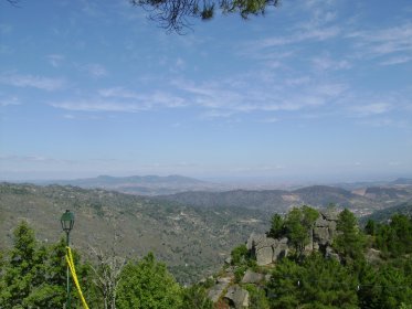
[[[335,259],[314,253],[302,265],[283,259],[268,284],[271,308],[357,308],[357,284]]]

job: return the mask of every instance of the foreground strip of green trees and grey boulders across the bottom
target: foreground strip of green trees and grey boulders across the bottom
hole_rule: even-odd
[[[190,287],[179,285],[151,253],[125,258],[75,252],[75,267],[89,308],[412,307],[411,217],[394,214],[390,223],[369,221],[363,231],[344,210],[336,217],[332,252],[307,247],[315,222],[324,220],[308,206],[285,216],[274,214],[267,237],[287,239],[285,256],[261,265],[251,249],[254,244],[242,244],[219,273]],[[30,224],[18,224],[12,246],[0,251],[0,308],[62,308],[65,253],[64,241],[44,244]],[[71,301],[81,307],[74,289]]]

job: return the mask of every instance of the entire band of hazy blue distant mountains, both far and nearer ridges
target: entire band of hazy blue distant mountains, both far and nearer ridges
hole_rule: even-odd
[[[228,185],[182,175],[131,175],[49,181],[44,184],[104,189],[136,195],[157,196],[191,206],[246,207],[266,212],[287,212],[290,206],[308,204],[349,207],[359,216],[412,199],[412,179],[339,185],[310,185],[297,190],[230,190]]]

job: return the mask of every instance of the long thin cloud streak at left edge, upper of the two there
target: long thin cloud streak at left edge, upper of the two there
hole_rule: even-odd
[[[57,90],[65,86],[61,78],[50,78],[34,75],[2,74],[0,83],[14,87],[33,87],[42,90]]]

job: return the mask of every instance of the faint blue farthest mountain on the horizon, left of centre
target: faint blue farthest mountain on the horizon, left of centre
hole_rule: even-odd
[[[220,185],[182,175],[131,175],[53,180],[38,184],[74,185],[84,189],[106,189],[138,195],[172,194],[192,190],[219,190]]]

